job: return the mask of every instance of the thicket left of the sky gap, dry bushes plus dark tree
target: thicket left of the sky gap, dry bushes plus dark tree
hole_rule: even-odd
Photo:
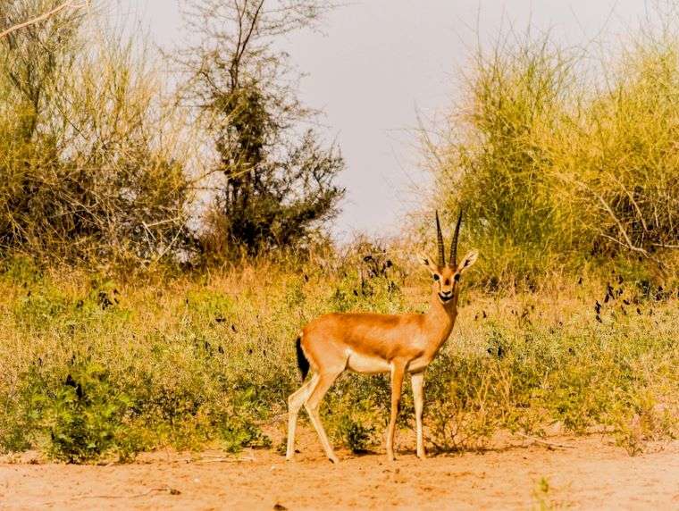
[[[58,4],[4,0],[0,29]],[[273,43],[327,7],[191,5],[188,29],[201,42],[164,60],[94,6],[0,39],[0,255],[200,265],[323,232],[344,163],[300,130],[312,112]],[[181,86],[163,85],[172,81]]]

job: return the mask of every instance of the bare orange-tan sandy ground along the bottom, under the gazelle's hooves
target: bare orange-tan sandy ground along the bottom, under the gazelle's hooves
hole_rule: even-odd
[[[327,462],[310,431],[298,459],[274,451],[155,452],[131,465],[0,463],[0,509],[679,509],[679,441],[629,457],[612,440],[527,440],[485,453],[418,460],[400,453]]]

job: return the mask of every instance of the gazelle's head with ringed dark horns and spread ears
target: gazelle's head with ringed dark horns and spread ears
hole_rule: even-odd
[[[467,271],[472,264],[476,262],[478,252],[472,250],[462,259],[457,262],[457,239],[460,234],[460,224],[462,223],[462,212],[460,211],[457,217],[457,225],[455,226],[455,234],[450,243],[450,259],[446,262],[446,252],[443,247],[443,234],[440,230],[439,212],[436,212],[436,240],[439,248],[439,260],[434,263],[432,257],[427,255],[420,255],[420,263],[423,264],[429,272],[432,273],[432,291],[439,297],[440,303],[444,306],[451,302],[456,296],[458,283],[462,273]]]

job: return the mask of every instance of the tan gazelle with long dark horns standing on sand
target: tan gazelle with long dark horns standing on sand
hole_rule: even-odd
[[[298,366],[302,381],[311,371],[310,380],[288,398],[287,459],[295,454],[295,429],[299,409],[305,406],[326,456],[335,456],[323,430],[318,407],[332,382],[346,369],[356,373],[391,374],[391,415],[387,429],[387,457],[394,459],[394,430],[406,373],[410,373],[415,398],[417,425],[417,457],[424,457],[422,431],[424,370],[448,339],[457,318],[459,281],[463,272],[476,262],[477,252],[465,255],[457,264],[457,238],[462,213],[457,218],[455,234],[446,264],[439,214],[436,213],[436,235],[439,260],[436,264],[421,255],[420,262],[432,273],[432,297],[425,314],[324,314],[308,323],[297,339]]]

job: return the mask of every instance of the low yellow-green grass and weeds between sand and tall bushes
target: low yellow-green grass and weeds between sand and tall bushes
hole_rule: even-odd
[[[83,462],[163,445],[266,447],[262,426],[281,424],[274,419],[299,385],[294,339],[304,323],[348,308],[426,308],[427,276],[382,262],[361,253],[128,283],[6,262],[0,448]],[[585,276],[535,294],[467,289],[461,307],[426,377],[434,446],[482,448],[496,431],[541,434],[555,422],[569,431],[607,426],[630,452],[675,434],[676,289],[616,275],[608,289]],[[388,403],[386,376],[345,375],[324,421],[336,441],[371,448]],[[407,390],[403,425],[412,426],[412,411]]]

